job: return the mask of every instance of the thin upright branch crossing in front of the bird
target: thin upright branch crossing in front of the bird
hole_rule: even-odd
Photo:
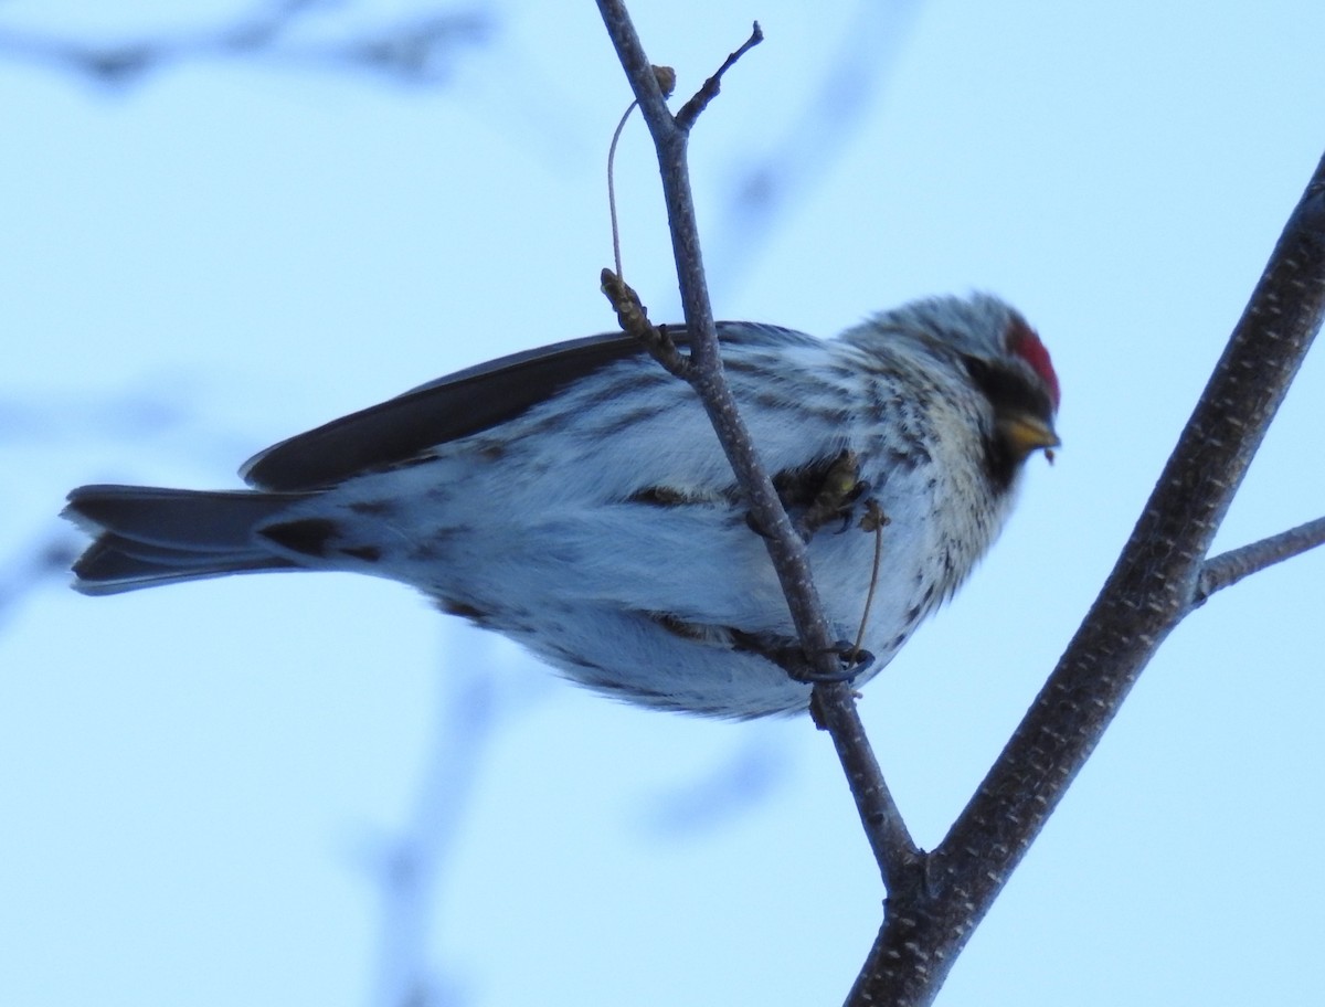
[[[747,496],[750,513],[765,531],[765,543],[787,596],[802,647],[815,673],[820,678],[829,678],[839,672],[837,648],[810,575],[804,542],[795,534],[772,488],[772,481],[759,462],[755,445],[727,388],[722,374],[722,359],[718,355],[718,339],[700,254],[698,225],[686,164],[689,127],[702,111],[706,99],[698,106],[694,106],[694,102],[686,106],[686,109],[694,107],[684,123],[673,118],[624,4],[619,0],[598,0],[598,7],[657,150],[681,305],[690,339],[689,364],[684,376],[704,403],[731,469]],[[757,33],[751,41],[733,53],[723,69],[758,38]],[[704,93],[701,90],[700,95]],[[918,861],[920,852],[902,823],[897,804],[865,741],[864,725],[856,712],[851,688],[843,682],[822,682],[815,686],[814,700],[818,722],[832,734],[865,835],[878,861],[884,884],[890,889],[894,884],[900,884],[901,876]]]

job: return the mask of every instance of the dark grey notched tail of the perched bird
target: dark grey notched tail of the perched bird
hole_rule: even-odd
[[[74,587],[113,595],[224,574],[292,570],[256,534],[305,493],[209,493],[151,486],[80,486],[64,515],[95,541],[74,563]]]

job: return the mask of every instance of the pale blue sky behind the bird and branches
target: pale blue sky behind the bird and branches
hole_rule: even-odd
[[[682,95],[767,36],[692,140],[719,318],[831,335],[987,289],[1053,354],[1057,464],[861,702],[933,845],[1325,150],[1325,4],[631,7]],[[587,0],[453,8],[473,40],[427,83],[318,53],[450,8],[326,5],[119,87],[29,58],[253,9],[0,8],[0,1003],[839,1003],[882,893],[807,719],[615,705],[387,582],[85,599],[45,562],[74,485],[237,486],[273,441],[612,327],[628,89]],[[637,121],[617,164],[627,276],[676,318]],[[1322,401],[1317,358],[1219,549],[1325,511]],[[1322,580],[1298,558],[1170,637],[939,1003],[1318,995]]]

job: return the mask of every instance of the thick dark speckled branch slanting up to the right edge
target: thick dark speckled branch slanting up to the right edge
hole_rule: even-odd
[[[886,914],[849,1004],[933,1002],[1141,670],[1192,610],[1210,543],[1322,314],[1325,159],[1102,592],[934,852],[930,885]]]

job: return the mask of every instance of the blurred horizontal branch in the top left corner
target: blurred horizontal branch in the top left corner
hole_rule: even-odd
[[[199,60],[256,60],[325,69],[351,69],[408,83],[450,78],[464,50],[486,42],[496,21],[480,7],[417,15],[343,40],[297,41],[290,32],[327,0],[277,0],[233,21],[121,42],[83,42],[37,32],[0,30],[0,60],[73,70],[106,87],[142,83],[150,72]]]

